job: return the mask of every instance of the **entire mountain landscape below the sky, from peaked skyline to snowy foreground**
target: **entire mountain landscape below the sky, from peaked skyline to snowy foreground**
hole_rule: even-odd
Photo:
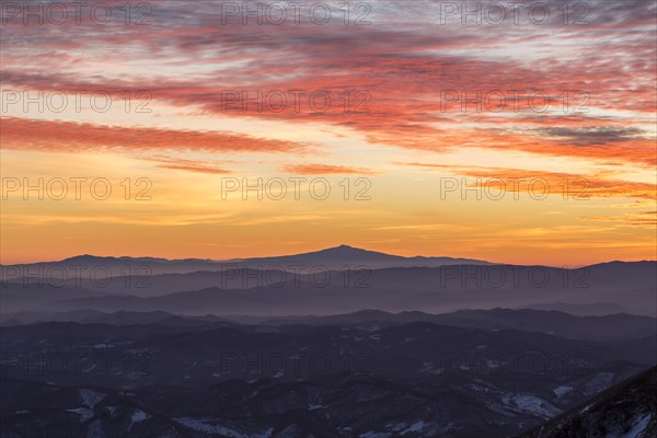
[[[654,437],[656,262],[0,268],[2,437]]]

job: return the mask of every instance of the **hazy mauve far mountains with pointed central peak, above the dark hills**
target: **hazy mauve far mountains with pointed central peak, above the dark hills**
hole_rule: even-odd
[[[657,315],[656,262],[568,269],[400,257],[343,245],[229,262],[82,256],[2,266],[2,273],[3,313],[95,309],[284,316],[504,307]]]

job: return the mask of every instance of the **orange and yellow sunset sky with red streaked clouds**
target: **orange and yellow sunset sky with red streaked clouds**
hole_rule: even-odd
[[[2,0],[1,262],[655,260],[656,4]]]

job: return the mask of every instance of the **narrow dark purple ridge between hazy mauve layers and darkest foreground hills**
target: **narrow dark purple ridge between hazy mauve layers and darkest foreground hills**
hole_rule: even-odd
[[[23,312],[0,316],[0,323],[24,325],[43,322],[76,322],[103,324],[151,324],[197,325],[200,323],[245,324],[280,327],[284,325],[344,325],[344,326],[393,326],[415,322],[433,323],[446,326],[502,331],[519,330],[543,333],[569,339],[598,342],[622,342],[643,339],[648,343],[656,339],[657,319],[630,314],[606,316],[575,316],[557,311],[542,310],[460,310],[452,313],[430,314],[420,311],[390,313],[368,309],[347,314],[328,316],[288,315],[278,318],[228,315],[184,315],[164,311],[116,311],[101,312],[92,309],[71,312]],[[643,342],[642,341],[642,342]],[[657,361],[657,351],[648,362]],[[648,355],[647,355],[648,356]]]

